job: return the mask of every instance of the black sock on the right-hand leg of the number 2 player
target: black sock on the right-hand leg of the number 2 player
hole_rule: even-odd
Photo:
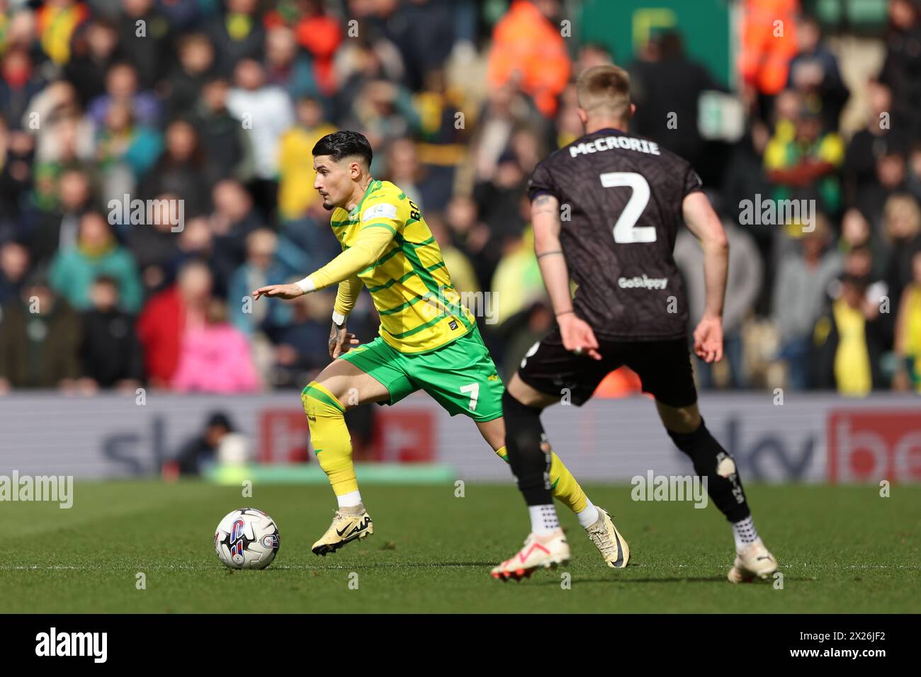
[[[693,433],[675,433],[671,430],[668,430],[668,433],[675,446],[694,461],[694,472],[706,477],[710,500],[726,515],[726,519],[737,522],[752,514],[745,501],[745,492],[742,490],[742,481],[735,461],[717,439],[710,435],[703,418]],[[721,464],[722,474],[717,473],[717,468]]]

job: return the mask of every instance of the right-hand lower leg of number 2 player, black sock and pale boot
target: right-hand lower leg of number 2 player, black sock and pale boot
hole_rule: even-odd
[[[736,559],[729,580],[768,578],[777,570],[777,560],[754,528],[735,461],[706,429],[696,403],[673,407],[657,401],[656,408],[675,446],[691,457],[694,472],[706,478],[710,499],[732,525]]]

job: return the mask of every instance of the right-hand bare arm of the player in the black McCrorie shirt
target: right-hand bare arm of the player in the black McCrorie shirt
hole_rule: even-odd
[[[704,248],[704,317],[694,330],[694,354],[705,362],[723,357],[723,300],[729,272],[726,232],[704,193],[690,193],[682,204],[684,222]]]

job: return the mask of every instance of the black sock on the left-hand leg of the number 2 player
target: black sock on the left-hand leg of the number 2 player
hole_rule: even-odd
[[[546,506],[554,502],[550,491],[551,450],[543,433],[541,411],[519,403],[508,391],[502,395],[508,464],[529,506]]]

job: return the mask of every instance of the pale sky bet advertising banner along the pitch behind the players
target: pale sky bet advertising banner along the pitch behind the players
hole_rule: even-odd
[[[921,481],[921,405],[875,396],[844,400],[764,394],[702,398],[706,425],[749,482],[916,483]],[[252,461],[315,464],[297,392],[258,397],[152,393],[94,398],[55,394],[5,398],[0,473],[72,474],[78,479],[151,476],[227,415]],[[359,461],[439,463],[464,480],[508,482],[505,463],[465,417],[425,395],[374,408],[373,434]],[[690,461],[665,434],[646,397],[557,406],[544,415],[555,450],[592,481],[682,474]],[[407,466],[408,467],[408,466]]]

